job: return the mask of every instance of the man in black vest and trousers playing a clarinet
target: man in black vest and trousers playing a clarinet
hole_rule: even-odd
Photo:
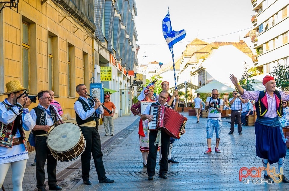
[[[76,122],[86,141],[85,150],[81,155],[83,183],[91,184],[91,181],[89,180],[91,154],[99,183],[112,183],[114,180],[110,180],[105,176],[105,169],[102,161],[103,154],[101,152],[101,142],[98,133],[97,114],[103,114],[103,108],[100,107],[101,102],[98,99],[96,99],[97,102],[94,102],[87,97],[87,89],[84,84],[77,85],[76,92],[79,95],[79,99],[74,103]]]

